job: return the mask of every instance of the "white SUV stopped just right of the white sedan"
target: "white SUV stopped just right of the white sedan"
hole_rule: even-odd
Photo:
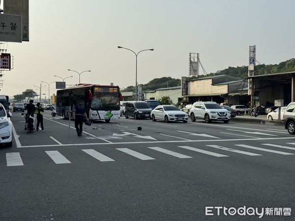
[[[220,107],[216,102],[195,102],[190,110],[191,121],[196,118],[204,119],[206,123],[212,120],[228,123],[231,119],[230,111]]]

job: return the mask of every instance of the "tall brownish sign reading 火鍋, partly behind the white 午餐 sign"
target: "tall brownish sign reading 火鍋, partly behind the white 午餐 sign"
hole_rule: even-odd
[[[22,16],[22,40],[29,41],[29,0],[3,0],[5,14]]]

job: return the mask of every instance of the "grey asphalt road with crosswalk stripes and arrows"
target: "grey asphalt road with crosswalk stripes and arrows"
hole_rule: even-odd
[[[27,133],[20,113],[11,121],[13,147],[0,147],[1,221],[259,220],[224,208],[206,216],[218,206],[295,220],[295,136],[284,127],[123,117],[84,125],[78,137],[74,121],[50,111],[43,132]]]

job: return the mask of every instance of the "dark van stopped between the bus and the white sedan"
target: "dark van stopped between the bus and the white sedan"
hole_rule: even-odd
[[[125,106],[125,118],[134,117],[138,118],[150,118],[151,108],[147,102],[144,101],[127,101]]]

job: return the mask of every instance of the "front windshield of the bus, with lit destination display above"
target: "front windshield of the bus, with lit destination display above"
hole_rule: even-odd
[[[91,109],[94,110],[120,110],[119,92],[117,88],[94,87]]]

